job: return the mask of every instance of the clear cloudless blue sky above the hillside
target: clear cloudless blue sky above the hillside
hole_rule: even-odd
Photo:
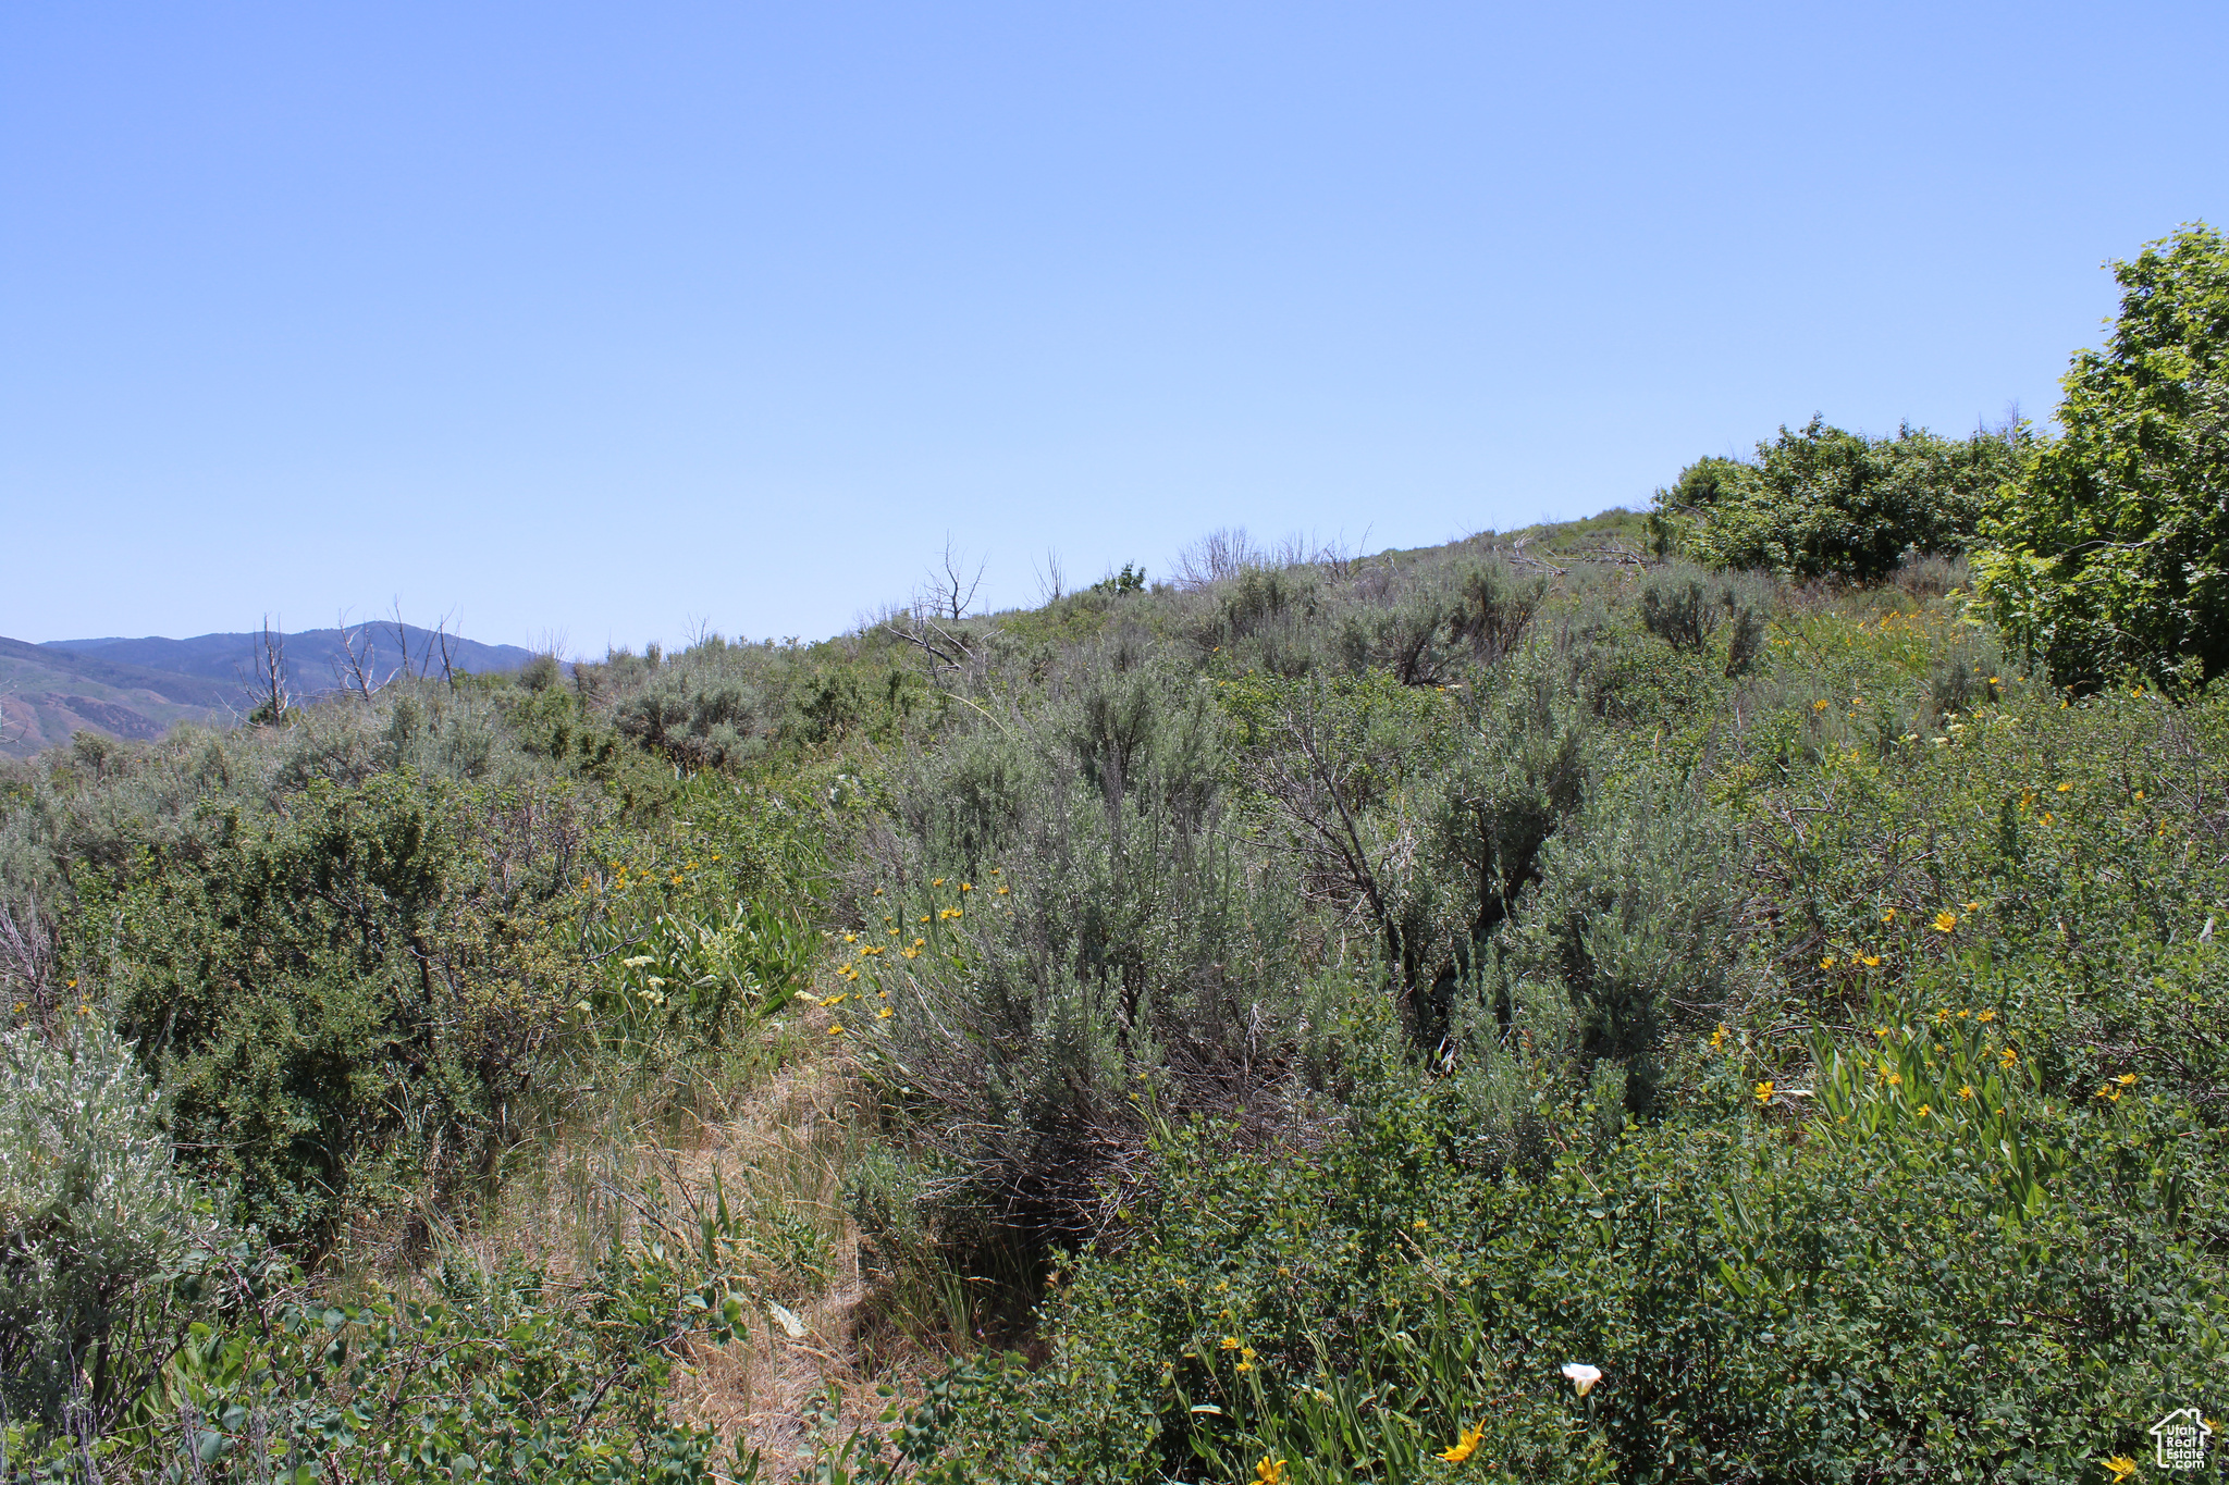
[[[0,635],[820,637],[2048,416],[2229,7],[0,7]]]

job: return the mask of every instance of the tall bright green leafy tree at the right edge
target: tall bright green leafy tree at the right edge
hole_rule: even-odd
[[[2064,436],[1993,512],[1975,588],[2062,686],[2229,668],[2229,243],[2115,263],[2120,318],[2060,383]]]

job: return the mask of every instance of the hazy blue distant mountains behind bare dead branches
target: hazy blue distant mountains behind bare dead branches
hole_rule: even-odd
[[[432,630],[377,623],[366,630],[372,684],[403,668],[441,672],[441,641]],[[301,699],[341,688],[348,648],[341,630],[285,635],[288,686]],[[29,757],[40,748],[91,730],[109,737],[154,739],[178,721],[232,726],[254,708],[250,677],[263,635],[198,635],[194,639],[58,639],[25,643],[0,639],[0,753]],[[363,643],[359,643],[363,652]],[[533,650],[448,637],[452,670],[490,675],[517,670]]]

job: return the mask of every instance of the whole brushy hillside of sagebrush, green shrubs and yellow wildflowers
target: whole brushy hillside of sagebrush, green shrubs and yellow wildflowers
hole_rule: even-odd
[[[2120,1478],[2229,708],[1966,592],[2069,450],[13,766],[0,1476]]]

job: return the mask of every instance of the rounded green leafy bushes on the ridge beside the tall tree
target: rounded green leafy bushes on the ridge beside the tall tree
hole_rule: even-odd
[[[2026,434],[1868,439],[1812,416],[1756,459],[1698,459],[1656,492],[1658,545],[1714,568],[1886,577],[1906,552],[1962,552]]]

